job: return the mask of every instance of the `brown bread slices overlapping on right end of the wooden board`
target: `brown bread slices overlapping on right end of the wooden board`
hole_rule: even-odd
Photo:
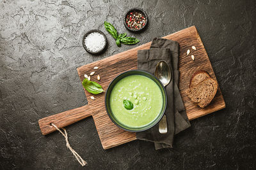
[[[206,71],[197,71],[190,80],[189,89],[186,91],[191,101],[204,108],[211,103],[218,90],[218,83]]]

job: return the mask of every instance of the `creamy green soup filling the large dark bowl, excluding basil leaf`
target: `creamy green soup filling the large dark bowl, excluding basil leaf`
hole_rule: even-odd
[[[132,110],[124,107],[124,100],[133,104]],[[113,116],[127,127],[144,127],[153,122],[163,107],[161,89],[146,76],[131,75],[122,78],[110,94]]]

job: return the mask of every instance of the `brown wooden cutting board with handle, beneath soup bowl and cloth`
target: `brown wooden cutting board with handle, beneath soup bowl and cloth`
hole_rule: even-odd
[[[187,29],[183,29],[168,36],[164,36],[163,38],[178,41],[180,44],[179,89],[189,120],[193,120],[225,108],[225,101],[223,100],[220,88],[218,89],[218,92],[211,104],[204,109],[199,108],[192,103],[185,93],[185,90],[188,89],[191,75],[195,73],[195,71],[204,69],[211,75],[212,78],[216,80],[211,62],[195,26],[188,27]],[[90,64],[86,64],[85,66],[78,67],[77,72],[79,77],[81,81],[83,81],[84,74],[90,74],[90,72],[95,71],[95,74],[92,76],[91,80],[100,83],[103,89],[106,90],[111,80],[113,80],[113,78],[115,78],[118,74],[127,70],[137,69],[138,50],[148,49],[150,44],[151,42],[136,48],[132,48],[131,50],[118,53],[111,57],[107,57],[97,62],[92,62]],[[191,46],[196,46],[196,50],[193,50]],[[195,60],[191,59],[191,55],[186,55],[188,49],[191,50],[191,54],[195,55]],[[93,67],[95,66],[99,67],[99,69],[94,70]],[[97,80],[98,74],[100,75],[100,81]],[[88,100],[88,105],[40,119],[38,122],[42,133],[49,134],[50,132],[56,130],[54,127],[52,127],[51,123],[57,125],[58,127],[65,127],[74,122],[82,120],[83,118],[92,116],[104,149],[112,148],[136,139],[136,134],[134,132],[124,131],[111,122],[104,106],[105,93],[92,95],[86,90],[84,90],[84,92]],[[92,100],[90,98],[91,96],[95,97],[95,100]]]

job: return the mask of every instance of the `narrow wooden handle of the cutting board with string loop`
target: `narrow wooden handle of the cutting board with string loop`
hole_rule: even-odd
[[[56,125],[58,128],[65,127],[67,125],[74,124],[83,118],[92,116],[92,113],[92,108],[87,104],[80,108],[63,111],[56,115],[42,118],[38,120],[38,124],[42,134],[46,135],[56,131],[55,127],[51,124]]]

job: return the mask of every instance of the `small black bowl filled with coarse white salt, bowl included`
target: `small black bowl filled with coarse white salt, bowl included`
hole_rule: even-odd
[[[106,50],[107,38],[106,35],[97,29],[86,32],[83,36],[84,50],[93,55],[99,55]]]

